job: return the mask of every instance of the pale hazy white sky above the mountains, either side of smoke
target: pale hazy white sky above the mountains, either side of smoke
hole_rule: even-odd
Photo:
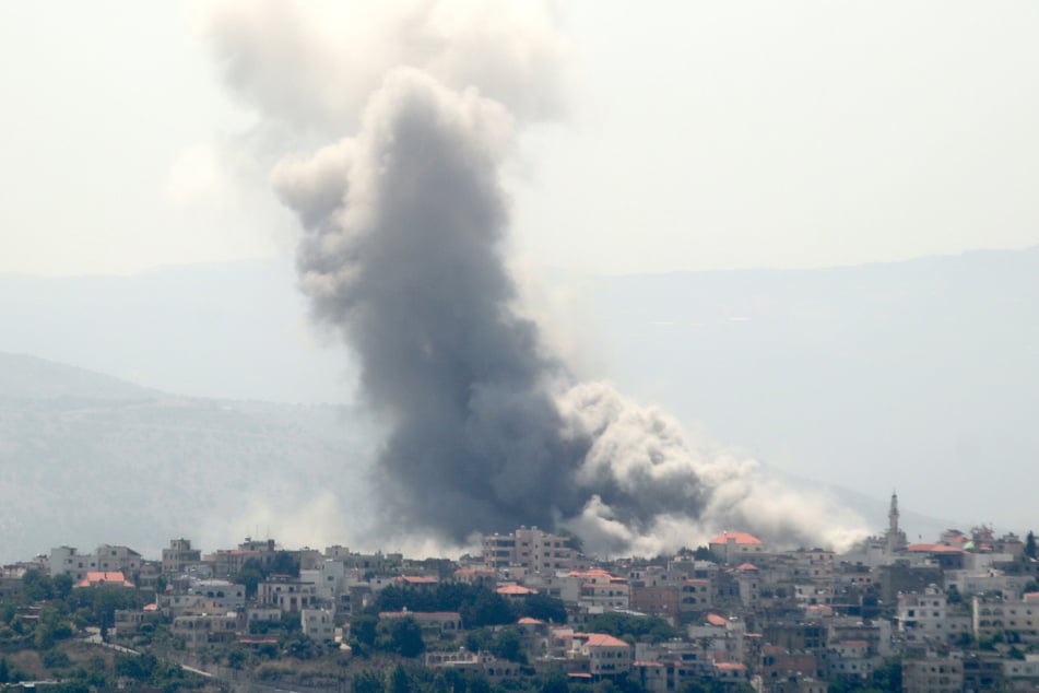
[[[292,251],[197,8],[2,12],[0,271]],[[558,20],[567,114],[527,131],[510,173],[531,262],[822,267],[1039,244],[1035,2],[585,0]]]

